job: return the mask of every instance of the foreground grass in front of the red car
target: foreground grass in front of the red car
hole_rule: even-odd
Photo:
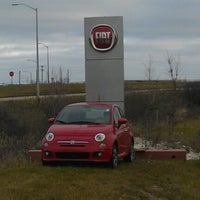
[[[2,200],[199,200],[200,161],[0,167]]]

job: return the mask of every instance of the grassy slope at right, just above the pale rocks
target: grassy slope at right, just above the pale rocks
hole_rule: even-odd
[[[156,146],[160,142],[168,143],[170,148],[192,148],[200,152],[200,118],[186,118],[174,125],[160,123],[148,127],[131,124],[135,136],[149,140]]]

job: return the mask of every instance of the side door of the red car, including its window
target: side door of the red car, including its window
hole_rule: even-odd
[[[119,107],[114,108],[114,123],[115,123],[115,129],[116,129],[116,135],[117,135],[117,142],[118,142],[118,153],[123,154],[128,144],[128,128],[127,124],[119,124],[118,120],[120,118],[124,118],[123,112],[120,110]]]

